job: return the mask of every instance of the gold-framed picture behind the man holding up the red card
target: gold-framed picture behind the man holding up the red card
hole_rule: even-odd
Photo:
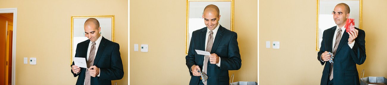
[[[317,0],[316,51],[320,51],[324,30],[336,26],[333,20],[333,9],[338,3],[346,3],[349,8],[349,18],[354,18],[355,27],[362,29],[363,0]],[[356,23],[359,24],[356,25]]]

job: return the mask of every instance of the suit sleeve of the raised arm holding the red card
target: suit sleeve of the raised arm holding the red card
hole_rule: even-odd
[[[352,47],[352,49],[349,51],[351,53],[351,57],[353,58],[353,61],[361,65],[364,63],[366,54],[365,54],[365,32],[364,30],[359,30],[358,37],[355,38],[355,43]],[[350,48],[349,48],[350,49]]]

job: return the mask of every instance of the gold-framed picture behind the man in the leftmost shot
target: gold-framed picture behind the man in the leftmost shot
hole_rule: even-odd
[[[96,18],[101,27],[101,36],[114,42],[114,15],[71,16],[71,64],[75,57],[77,44],[88,39],[85,37],[83,26],[88,18]]]

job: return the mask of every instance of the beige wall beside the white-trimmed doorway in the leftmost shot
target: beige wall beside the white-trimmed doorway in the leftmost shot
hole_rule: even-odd
[[[128,83],[127,0],[2,0],[0,8],[17,8],[16,85],[75,84],[70,72],[73,15],[115,15],[125,75],[113,82]],[[35,57],[37,64],[23,64],[23,57]]]

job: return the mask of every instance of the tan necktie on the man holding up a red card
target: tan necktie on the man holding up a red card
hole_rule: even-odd
[[[332,51],[334,57],[336,57],[336,51],[337,51],[337,47],[339,46],[340,40],[341,40],[341,28],[339,28],[339,31],[337,31],[336,41]],[[329,71],[329,80],[332,80],[332,79],[333,79],[333,62],[330,63],[330,71]]]

